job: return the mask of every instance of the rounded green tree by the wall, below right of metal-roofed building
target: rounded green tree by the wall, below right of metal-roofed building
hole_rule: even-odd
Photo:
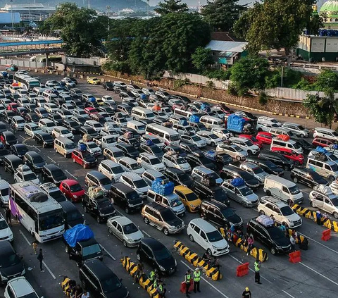
[[[265,89],[265,77],[270,75],[268,60],[254,56],[239,59],[231,68],[232,87],[240,96],[249,89],[260,92]]]

